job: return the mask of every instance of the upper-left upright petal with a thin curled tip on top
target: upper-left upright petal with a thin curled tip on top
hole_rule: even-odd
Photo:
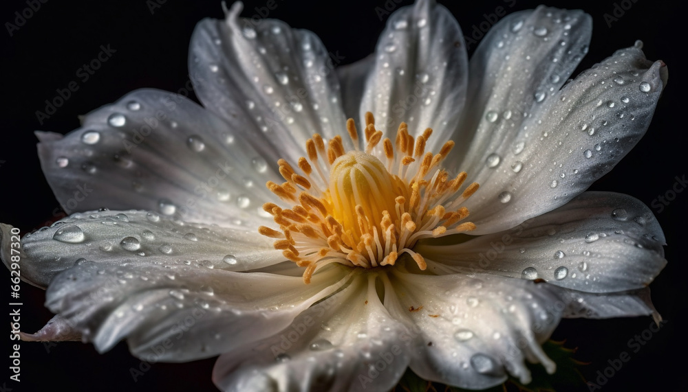
[[[313,133],[329,139],[345,124],[334,72],[341,58],[312,32],[240,19],[241,8],[237,1],[226,20],[196,26],[189,54],[195,93],[209,110],[240,119],[237,132],[266,159],[296,162]]]

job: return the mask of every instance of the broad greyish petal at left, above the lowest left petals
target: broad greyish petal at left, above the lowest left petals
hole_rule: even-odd
[[[136,208],[200,222],[270,222],[260,213],[275,200],[264,186],[281,178],[275,162],[191,100],[133,91],[82,122],[63,139],[39,134],[43,172],[68,213]]]

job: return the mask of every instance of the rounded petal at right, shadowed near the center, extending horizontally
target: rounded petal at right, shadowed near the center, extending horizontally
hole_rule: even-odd
[[[424,244],[416,251],[453,272],[544,279],[582,292],[620,292],[643,288],[659,274],[667,263],[664,244],[652,211],[639,200],[585,192],[514,229],[458,245]]]

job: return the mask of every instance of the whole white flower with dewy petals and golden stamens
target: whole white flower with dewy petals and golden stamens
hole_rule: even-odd
[[[206,109],[139,90],[39,135],[58,199],[88,183],[94,211],[22,240],[23,279],[58,314],[23,338],[222,354],[213,379],[232,391],[387,391],[407,367],[481,389],[528,382],[525,359],[555,371],[540,343],[562,317],[654,313],[652,213],[583,193],[665,86],[640,45],[563,86],[590,16],[510,14],[469,63],[453,16],[420,0],[335,70],[312,33],[240,11],[192,38]]]

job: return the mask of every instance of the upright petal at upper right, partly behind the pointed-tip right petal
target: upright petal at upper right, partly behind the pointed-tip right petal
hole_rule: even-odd
[[[592,19],[580,10],[537,10],[506,16],[486,34],[471,57],[469,101],[447,164],[477,175],[486,157],[531,114],[535,93],[559,90],[587,51]],[[563,45],[561,45],[563,43]],[[475,132],[472,134],[471,132]],[[536,135],[539,136],[539,135]],[[471,140],[472,138],[472,140]],[[508,169],[502,155],[498,169]],[[493,171],[493,170],[492,170]],[[482,176],[480,176],[482,178]],[[484,185],[483,183],[480,183]]]

